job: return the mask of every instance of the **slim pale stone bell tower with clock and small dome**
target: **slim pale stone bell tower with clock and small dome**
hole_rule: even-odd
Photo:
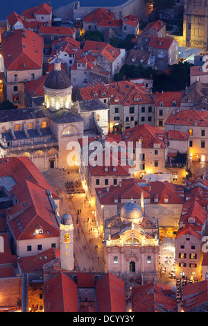
[[[62,215],[60,223],[61,268],[73,271],[73,221],[69,214]]]

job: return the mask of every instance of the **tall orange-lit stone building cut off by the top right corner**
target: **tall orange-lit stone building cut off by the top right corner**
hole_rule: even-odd
[[[184,46],[207,50],[208,45],[208,1],[184,1]]]

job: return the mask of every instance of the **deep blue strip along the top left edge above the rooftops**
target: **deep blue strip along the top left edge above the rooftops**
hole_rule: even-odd
[[[80,0],[80,6],[118,6],[121,3],[125,3],[127,0]],[[12,11],[16,11],[17,14],[27,8],[31,8],[48,0],[0,0],[0,20],[6,20]],[[73,2],[73,0],[51,0],[51,6],[53,8],[58,8],[60,6],[65,6],[67,3]]]

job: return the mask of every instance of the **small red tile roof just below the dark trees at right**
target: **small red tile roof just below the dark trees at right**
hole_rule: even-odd
[[[180,107],[180,103],[184,92],[156,92],[153,94],[155,98],[155,106],[160,106],[160,103],[163,103],[164,107],[173,107],[173,102],[176,104],[174,106]]]

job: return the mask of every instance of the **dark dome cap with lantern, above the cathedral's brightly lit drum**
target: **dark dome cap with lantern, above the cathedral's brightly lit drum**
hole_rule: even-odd
[[[61,62],[56,58],[54,69],[46,77],[44,87],[49,89],[67,89],[71,86],[71,80],[67,73],[61,69]]]

